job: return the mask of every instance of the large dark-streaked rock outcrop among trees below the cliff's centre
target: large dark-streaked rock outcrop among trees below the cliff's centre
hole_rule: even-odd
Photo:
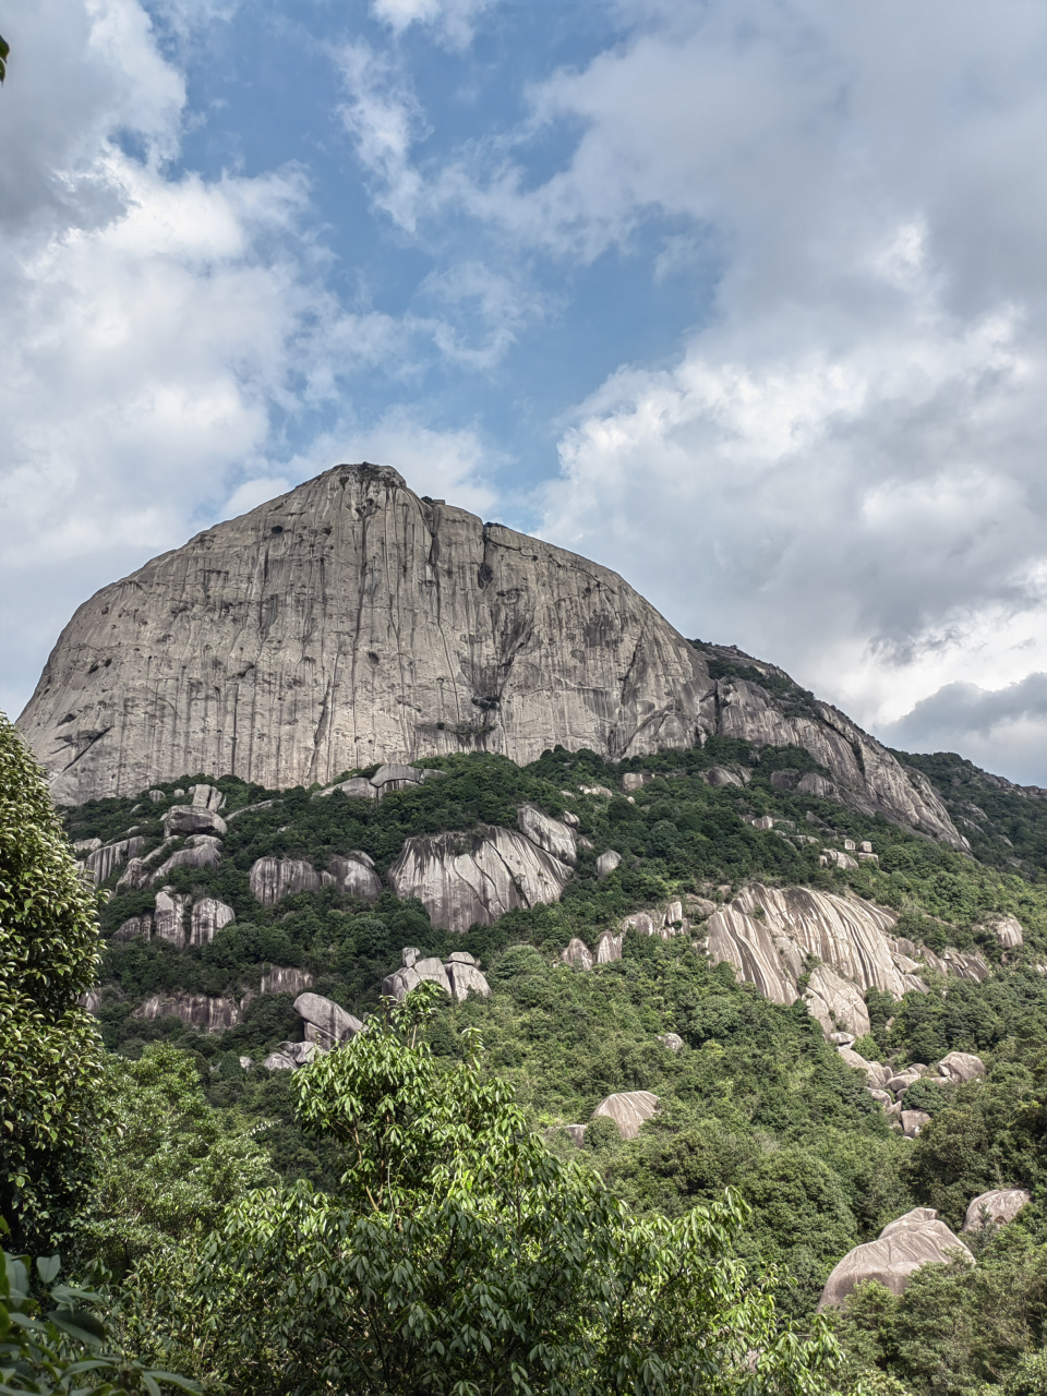
[[[549,845],[570,853],[571,863],[547,852]],[[524,805],[519,831],[479,825],[470,833],[408,839],[389,868],[389,886],[396,896],[419,898],[433,926],[468,931],[517,906],[558,902],[574,849],[572,829]]]

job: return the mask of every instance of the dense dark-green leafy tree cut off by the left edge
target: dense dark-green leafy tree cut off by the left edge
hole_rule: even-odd
[[[102,1044],[78,1000],[96,970],[96,895],[0,713],[0,1215],[20,1247],[47,1248],[84,1196]]]

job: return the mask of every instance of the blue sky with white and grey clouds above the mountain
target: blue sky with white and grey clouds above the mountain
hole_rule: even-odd
[[[0,706],[343,461],[1047,786],[1041,0],[3,0]]]

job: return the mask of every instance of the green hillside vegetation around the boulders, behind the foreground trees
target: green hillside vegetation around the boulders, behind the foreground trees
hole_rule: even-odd
[[[718,651],[713,662],[725,676],[765,687],[776,680],[773,673],[750,674],[744,656],[730,652]],[[786,692],[790,680],[778,681],[782,701],[797,709],[812,701],[796,685]],[[953,758],[905,759],[920,765],[955,815]],[[818,769],[797,748],[711,738],[692,751],[617,765],[564,750],[524,769],[493,755],[422,765],[443,776],[381,801],[187,775],[165,783],[159,803],[142,793],[64,811],[71,839],[112,840],[134,829],[147,839],[144,857],[159,849],[162,814],[179,803],[176,789],[214,783],[226,796],[223,818],[244,811],[229,821],[221,866],[181,868],[169,878],[177,891],[233,907],[236,921],[211,944],[177,949],[159,940],[112,941],[124,920],[152,907],[155,895],[117,893],[123,868],[99,902],[105,944],[96,1019],[113,1054],[101,1075],[99,1108],[116,1124],[95,1149],[91,1201],[66,1249],[80,1273],[110,1286],[120,1332],[142,1360],[214,1378],[214,1349],[204,1351],[158,1295],[177,1293],[188,1302],[174,1270],[181,1268],[179,1284],[197,1273],[194,1266],[205,1270],[208,1245],[218,1244],[207,1235],[212,1228],[219,1235],[237,1196],[268,1185],[285,1199],[279,1206],[292,1210],[299,1206],[293,1198],[341,1196],[343,1141],[336,1131],[309,1127],[300,1114],[309,1071],[267,1072],[260,1065],[281,1041],[303,1033],[293,995],[258,993],[271,966],[309,970],[317,993],[363,1018],[381,1012],[381,980],[399,966],[402,946],[440,956],[470,951],[493,994],[463,1004],[441,995],[431,1005],[420,1032],[434,1069],[469,1069],[479,1082],[504,1082],[500,1089],[526,1131],[543,1141],[544,1156],[602,1180],[637,1223],[683,1226],[688,1217],[718,1215],[730,1196],[732,1254],[750,1273],[776,1276],[775,1312],[800,1332],[810,1330],[832,1266],[912,1206],[937,1208],[958,1230],[967,1202],[988,1188],[1027,1187],[1039,1199],[1047,1129],[1047,974],[1040,973],[1047,962],[1047,840],[1040,850],[1040,801],[991,782],[979,787],[994,829],[1016,819],[1019,805],[1033,811],[1026,818],[1032,832],[1020,835],[1023,842],[1012,838],[1016,857],[1008,861],[983,857],[966,825],[960,828],[976,856],[884,818],[778,789],[771,782],[778,771]],[[704,772],[712,766],[734,771],[744,785],[711,786]],[[980,778],[970,771],[970,780]],[[653,778],[632,800],[620,793],[627,772]],[[356,773],[369,772],[343,778]],[[584,786],[609,793],[585,793]],[[272,803],[251,808],[265,801]],[[592,845],[581,850],[556,906],[512,912],[494,926],[452,935],[431,927],[420,903],[388,891],[376,906],[356,905],[334,888],[268,909],[251,896],[248,872],[260,857],[302,859],[322,870],[332,854],[363,850],[384,875],[405,839],[515,825],[524,801],[551,817],[571,811]],[[766,814],[773,829],[747,822]],[[822,847],[842,849],[845,839],[870,840],[878,864],[821,867]],[[165,845],[163,857],[180,846]],[[596,859],[607,849],[623,861],[600,881]],[[900,1068],[959,1050],[979,1053],[988,1065],[986,1079],[967,1086],[912,1087],[906,1108],[931,1115],[917,1141],[888,1127],[864,1076],[843,1064],[803,1002],[782,1008],[764,1001],[736,983],[729,966],[711,965],[688,937],[663,942],[628,934],[621,960],[588,973],[556,963],[572,937],[595,948],[600,933],[617,931],[631,912],[685,895],[722,903],[751,881],[868,898],[898,912],[899,933],[916,944],[977,951],[991,965],[981,984],[930,976],[928,994],[910,993],[902,1002],[875,990],[867,995],[871,1036],[857,1044],[867,1057]],[[1020,920],[1019,949],[1001,951],[987,928],[1000,914]],[[174,1016],[138,1016],[144,1000],[158,994],[255,997],[236,1027],[207,1034]],[[684,1041],[676,1054],[658,1040],[667,1032]],[[247,1069],[242,1057],[251,1058]],[[588,1121],[606,1094],[632,1089],[659,1097],[659,1113],[639,1136],[621,1141],[600,1120],[575,1149],[563,1125]],[[1037,1375],[1043,1364],[1036,1365],[1047,1342],[1046,1242],[1047,1217],[1034,1201],[998,1235],[974,1238],[977,1269],[928,1268],[902,1300],[866,1287],[846,1314],[831,1318],[847,1354],[842,1388],[864,1383],[863,1390],[919,1396],[994,1396],[987,1388],[995,1386],[1047,1390]],[[242,1261],[229,1252],[223,1263]],[[204,1279],[200,1287],[204,1293]],[[232,1389],[269,1389],[257,1371],[250,1381],[240,1375],[242,1385]],[[278,1376],[265,1376],[272,1390],[321,1389],[309,1381],[283,1388]]]

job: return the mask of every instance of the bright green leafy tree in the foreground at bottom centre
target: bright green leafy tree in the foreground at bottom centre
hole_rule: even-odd
[[[168,1323],[214,1335],[207,1375],[257,1396],[821,1390],[821,1321],[808,1339],[780,1323],[773,1276],[732,1255],[744,1203],[635,1220],[529,1132],[476,1039],[433,1058],[417,1030],[438,993],[297,1074],[342,1184],[244,1199],[183,1277]]]

